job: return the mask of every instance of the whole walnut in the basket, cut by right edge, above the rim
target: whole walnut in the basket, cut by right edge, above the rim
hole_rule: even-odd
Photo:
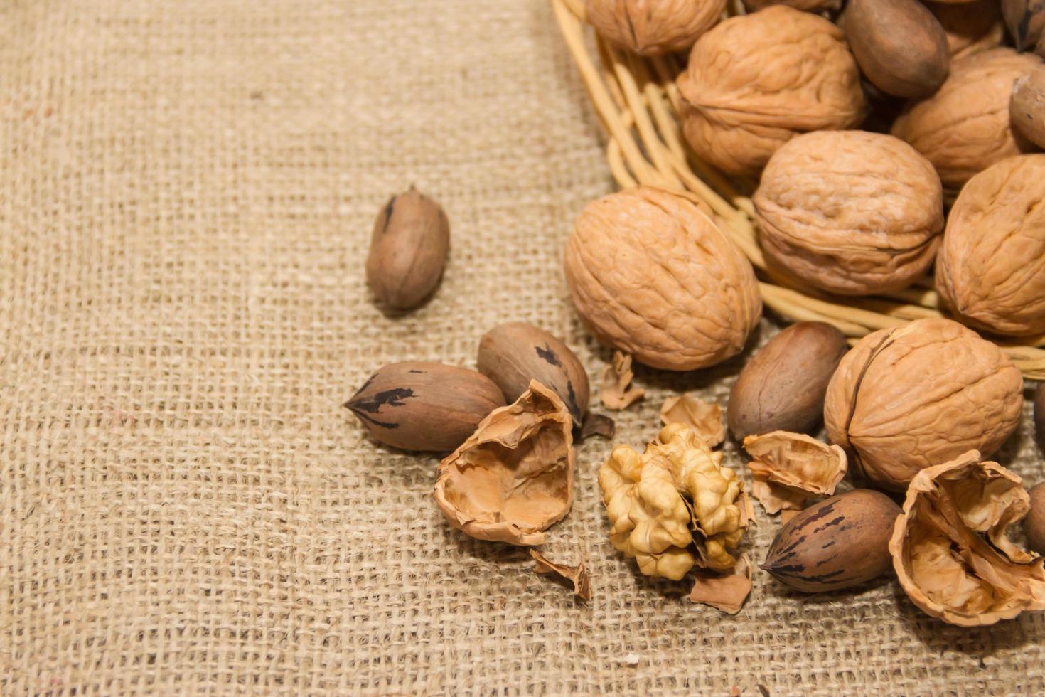
[[[1045,155],[969,180],[947,219],[936,291],[962,322],[997,334],[1045,332]]]

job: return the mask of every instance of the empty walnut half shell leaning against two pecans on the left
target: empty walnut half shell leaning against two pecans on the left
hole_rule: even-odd
[[[436,504],[477,539],[541,544],[574,501],[573,420],[536,380],[439,463]]]

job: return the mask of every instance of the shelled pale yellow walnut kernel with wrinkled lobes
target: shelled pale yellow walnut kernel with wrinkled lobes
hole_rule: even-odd
[[[744,535],[748,503],[736,472],[681,423],[643,455],[613,448],[599,469],[610,541],[647,576],[679,580],[694,566],[725,571]]]

